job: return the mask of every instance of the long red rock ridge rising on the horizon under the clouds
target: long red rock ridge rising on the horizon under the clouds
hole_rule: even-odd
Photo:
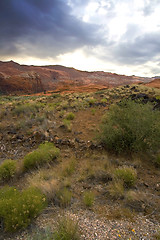
[[[86,72],[59,65],[27,66],[0,61],[1,93],[37,93],[43,91],[97,90],[119,85],[150,82],[151,78],[118,75],[110,72]]]

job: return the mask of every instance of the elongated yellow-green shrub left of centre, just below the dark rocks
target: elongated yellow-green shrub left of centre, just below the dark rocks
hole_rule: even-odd
[[[38,149],[28,153],[24,157],[24,170],[38,167],[44,163],[49,163],[59,156],[59,149],[53,143],[46,142],[40,144]]]

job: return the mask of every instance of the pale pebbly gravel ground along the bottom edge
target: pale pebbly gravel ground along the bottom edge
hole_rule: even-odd
[[[36,226],[31,226],[30,229],[19,233],[17,236],[0,237],[0,240],[26,240],[28,233],[30,235],[36,228],[45,229],[46,226],[50,226],[54,230],[56,219],[60,215],[62,216],[62,210],[51,209],[50,212],[48,211],[48,213],[37,218]],[[70,216],[73,220],[78,221],[82,240],[154,240],[153,235],[160,228],[158,223],[153,223],[145,217],[137,217],[132,222],[107,220],[98,218],[95,213],[89,210],[79,210],[78,213],[74,213],[74,211],[67,209],[63,210],[63,215]]]

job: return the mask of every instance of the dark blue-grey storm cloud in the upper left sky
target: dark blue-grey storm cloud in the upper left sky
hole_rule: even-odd
[[[0,53],[55,57],[95,46],[98,26],[73,16],[65,0],[1,0]]]

